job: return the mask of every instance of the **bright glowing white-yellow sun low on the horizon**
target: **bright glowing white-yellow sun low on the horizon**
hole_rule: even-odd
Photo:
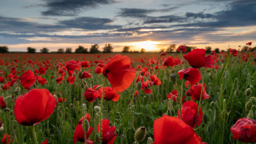
[[[158,50],[157,45],[161,44],[161,42],[157,41],[141,41],[141,42],[132,42],[131,45],[136,49],[144,48],[146,51],[156,51]]]

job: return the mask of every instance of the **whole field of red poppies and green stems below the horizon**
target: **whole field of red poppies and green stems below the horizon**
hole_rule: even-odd
[[[0,138],[3,144],[256,142],[256,51],[248,47],[0,54]]]

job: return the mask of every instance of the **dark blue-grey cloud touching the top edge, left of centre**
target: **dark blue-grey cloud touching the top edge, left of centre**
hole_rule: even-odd
[[[45,0],[47,11],[43,11],[45,16],[75,16],[81,10],[97,7],[100,4],[111,4],[114,0]]]

